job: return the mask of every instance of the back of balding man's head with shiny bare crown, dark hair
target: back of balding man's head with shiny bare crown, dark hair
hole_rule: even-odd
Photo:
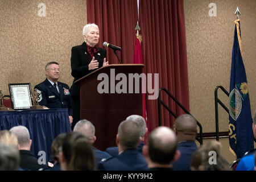
[[[148,169],[152,171],[172,170],[172,162],[180,157],[174,131],[165,126],[153,130],[148,138],[148,146],[143,147],[143,155],[146,157]]]

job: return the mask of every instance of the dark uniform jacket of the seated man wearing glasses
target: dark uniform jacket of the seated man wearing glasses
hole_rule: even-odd
[[[54,88],[47,79],[35,86],[35,88],[41,92],[39,104],[49,108],[68,108],[68,114],[73,115],[69,86],[59,81],[57,85],[60,93],[57,92],[56,88]]]

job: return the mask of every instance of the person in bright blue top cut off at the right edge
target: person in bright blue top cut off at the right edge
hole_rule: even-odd
[[[253,135],[256,138],[256,110],[254,111],[253,116]],[[241,158],[240,162],[238,162],[236,171],[254,171],[254,153],[255,149],[249,152],[246,152],[245,155]]]

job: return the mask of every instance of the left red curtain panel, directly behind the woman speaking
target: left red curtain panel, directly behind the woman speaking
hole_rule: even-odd
[[[103,42],[121,47],[117,51],[123,63],[131,64],[134,58],[135,26],[138,19],[137,1],[134,0],[87,0],[87,22],[96,23],[100,28],[99,47]],[[110,48],[110,64],[118,64],[118,59]]]

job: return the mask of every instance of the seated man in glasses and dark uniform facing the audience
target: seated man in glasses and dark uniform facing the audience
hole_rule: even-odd
[[[46,65],[46,80],[35,86],[38,89],[39,104],[49,108],[68,108],[69,121],[73,122],[72,101],[69,86],[57,81],[60,77],[59,63],[50,62]]]

